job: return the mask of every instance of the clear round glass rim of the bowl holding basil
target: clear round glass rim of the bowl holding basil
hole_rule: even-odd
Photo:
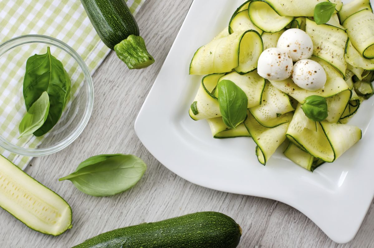
[[[5,52],[9,51],[10,49],[13,49],[17,46],[25,45],[28,43],[45,43],[45,44],[56,46],[62,49],[63,51],[67,52],[71,57],[74,58],[74,60],[77,61],[80,68],[82,69],[83,75],[86,80],[85,87],[87,88],[87,91],[88,91],[88,101],[86,103],[86,111],[83,115],[82,121],[80,121],[79,126],[76,128],[74,133],[70,134],[68,137],[66,137],[64,140],[62,140],[58,144],[47,147],[47,148],[35,148],[35,149],[23,148],[23,147],[14,145],[13,143],[10,143],[6,139],[4,139],[3,136],[0,135],[0,146],[6,149],[7,151],[18,154],[18,155],[23,155],[23,156],[39,157],[39,156],[50,155],[55,152],[61,151],[62,149],[66,148],[68,145],[73,143],[74,140],[76,140],[79,137],[79,135],[82,134],[92,114],[93,83],[92,83],[91,72],[89,71],[86,63],[83,61],[80,55],[77,54],[77,52],[74,51],[74,49],[71,48],[69,45],[53,37],[40,35],[40,34],[28,34],[28,35],[23,35],[23,36],[12,38],[10,40],[7,40],[1,43],[0,57]]]

